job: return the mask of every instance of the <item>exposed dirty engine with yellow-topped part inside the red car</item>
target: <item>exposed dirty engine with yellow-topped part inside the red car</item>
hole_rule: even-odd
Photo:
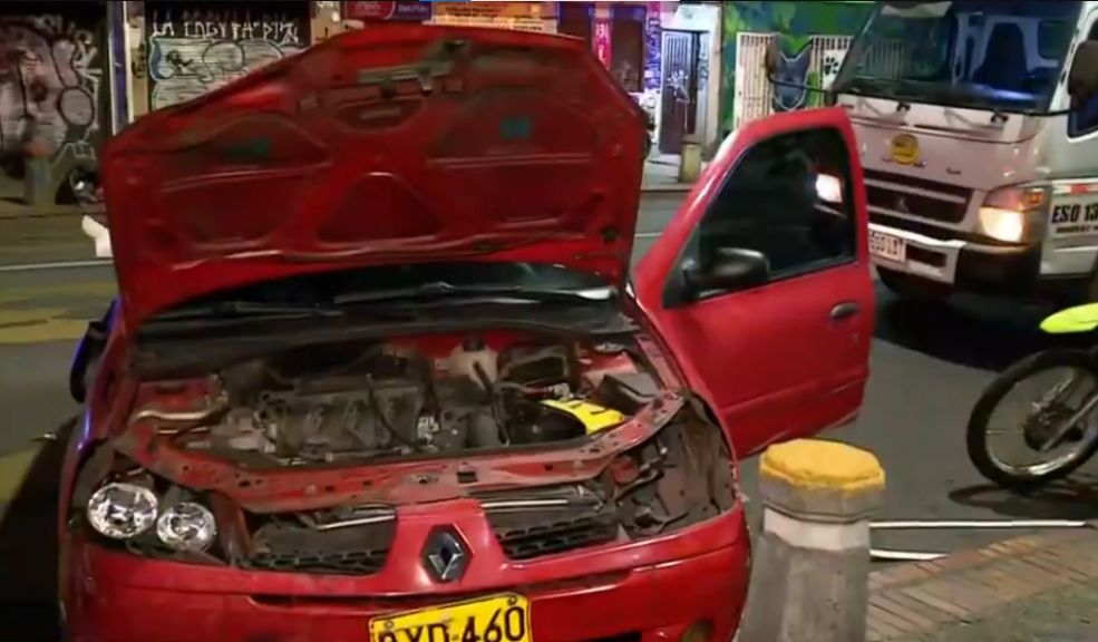
[[[202,420],[148,411],[176,444],[256,464],[449,454],[566,441],[624,421],[655,382],[624,346],[479,337],[311,347],[226,368]],[[597,417],[595,424],[591,417]]]

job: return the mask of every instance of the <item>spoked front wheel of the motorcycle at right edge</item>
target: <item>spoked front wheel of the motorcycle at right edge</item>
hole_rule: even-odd
[[[1095,390],[1098,389],[1098,367],[1096,367],[1088,353],[1080,350],[1046,350],[1027,357],[1004,370],[984,389],[975,407],[973,407],[972,414],[969,416],[966,434],[969,459],[975,466],[976,470],[989,481],[1010,490],[1031,490],[1049,481],[1070,475],[1098,451],[1098,425],[1094,422],[1094,415],[1084,420],[1084,426],[1080,427],[1079,438],[1072,442],[1073,447],[1066,455],[1057,457],[1051,461],[1012,466],[1000,460],[991,451],[988,442],[989,429],[991,428],[991,421],[995,410],[1000,408],[1007,396],[1026,380],[1034,379],[1042,373],[1056,369],[1069,369],[1073,371],[1073,376],[1076,377],[1089,377],[1091,385],[1084,388],[1087,392],[1085,399],[1096,393]],[[1085,381],[1084,385],[1086,386],[1086,383]],[[1048,390],[1044,393],[1048,393]],[[1036,402],[1037,399],[1029,400],[1030,406],[1033,406]],[[1081,403],[1078,406],[1081,406]],[[1065,408],[1060,417],[1062,418],[1066,412],[1078,410],[1078,406],[1073,409]],[[1055,419],[1049,420],[1055,424]],[[1031,434],[1028,431],[1031,429],[1040,430],[1040,427],[1034,428],[1030,421],[1033,421],[1033,418],[1031,415],[1027,415],[1021,428],[1024,432],[1027,445],[1033,448],[1029,442]],[[1032,451],[1037,453],[1036,448]]]

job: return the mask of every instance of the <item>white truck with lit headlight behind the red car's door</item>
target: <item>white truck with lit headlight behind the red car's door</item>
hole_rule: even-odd
[[[830,87],[903,298],[1098,300],[1098,2],[877,2]]]

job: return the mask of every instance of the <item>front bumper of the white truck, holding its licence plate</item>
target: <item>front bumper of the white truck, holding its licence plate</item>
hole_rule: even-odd
[[[1087,279],[1086,274],[1042,274],[1040,245],[943,240],[877,223],[871,223],[869,230],[901,239],[905,246],[903,261],[875,255],[874,264],[942,283],[955,291],[1041,299],[1070,293]]]

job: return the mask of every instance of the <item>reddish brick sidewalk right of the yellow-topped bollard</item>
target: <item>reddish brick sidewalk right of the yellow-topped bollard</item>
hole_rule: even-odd
[[[927,633],[1098,580],[1098,531],[1019,537],[869,576],[867,641]]]

